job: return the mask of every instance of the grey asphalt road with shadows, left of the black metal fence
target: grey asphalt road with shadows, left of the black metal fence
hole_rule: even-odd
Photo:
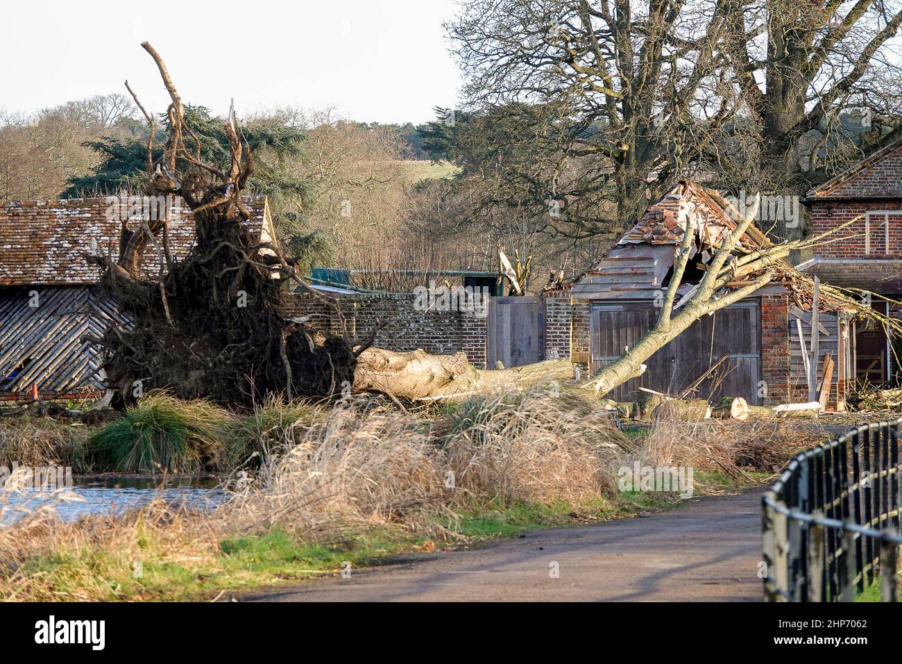
[[[413,554],[302,585],[264,602],[756,602],[761,491],[467,550]],[[552,572],[557,569],[557,577]]]

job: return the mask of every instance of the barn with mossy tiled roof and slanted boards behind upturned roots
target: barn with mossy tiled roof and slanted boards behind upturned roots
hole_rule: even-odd
[[[128,326],[115,299],[97,285],[100,269],[87,255],[116,257],[134,197],[17,201],[0,206],[0,399],[76,398],[104,389],[99,337],[111,323]],[[247,198],[248,223],[263,242],[275,238],[265,197]],[[188,255],[194,220],[179,199],[169,206],[174,259]],[[144,276],[156,279],[155,259]]]

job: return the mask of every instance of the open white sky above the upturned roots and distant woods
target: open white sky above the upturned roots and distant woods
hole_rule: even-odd
[[[148,15],[170,7],[169,16]],[[182,98],[216,114],[280,105],[337,107],[376,122],[424,122],[455,107],[460,77],[442,22],[453,0],[112,0],[5,2],[0,108],[32,112],[128,91],[145,108],[169,101],[140,46],[160,52]],[[234,17],[234,19],[233,19]]]

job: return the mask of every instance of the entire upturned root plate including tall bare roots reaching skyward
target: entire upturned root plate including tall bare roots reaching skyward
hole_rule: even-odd
[[[240,405],[272,392],[339,394],[354,380],[357,356],[372,336],[355,346],[336,301],[299,279],[279,244],[253,229],[242,198],[253,155],[234,109],[225,121],[229,154],[222,163],[204,161],[203,137],[186,123],[182,99],[161,56],[149,43],[142,46],[171,100],[167,139],[160,149],[154,145],[155,118],[125,83],[149,125],[143,193],[154,200],[185,201],[196,232],[188,256],[176,260],[168,232],[170,209],[156,209],[153,216],[142,211],[122,220],[118,257],[87,256],[104,269],[101,286],[131,321],[111,326],[100,339],[86,337],[105,351],[103,369],[115,401],[133,401],[147,388]],[[152,270],[143,267],[147,258]],[[340,333],[317,332],[287,318],[286,280],[333,305]]]

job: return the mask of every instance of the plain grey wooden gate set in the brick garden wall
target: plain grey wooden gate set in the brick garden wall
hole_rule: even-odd
[[[545,299],[538,295],[490,297],[485,321],[488,369],[545,360]]]

